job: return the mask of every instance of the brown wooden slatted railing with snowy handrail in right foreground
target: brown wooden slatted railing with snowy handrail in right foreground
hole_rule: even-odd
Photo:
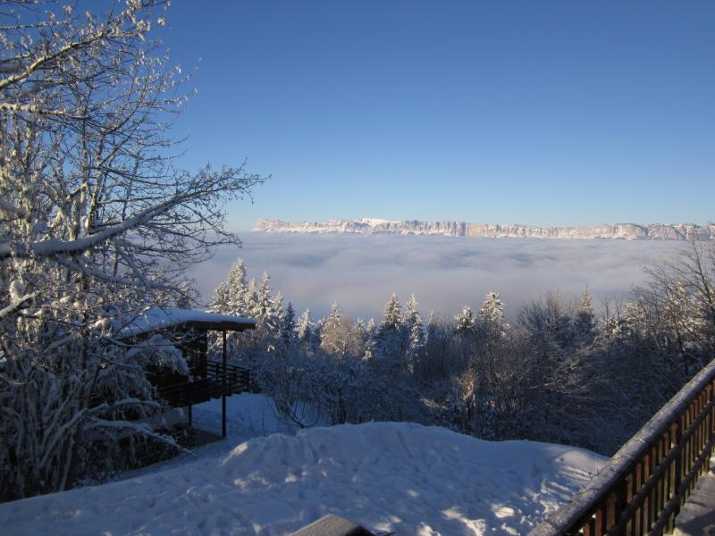
[[[715,427],[715,361],[629,440],[584,490],[529,536],[671,532],[709,469]]]

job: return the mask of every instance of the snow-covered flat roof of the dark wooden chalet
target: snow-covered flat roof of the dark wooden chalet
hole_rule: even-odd
[[[203,330],[244,331],[256,328],[256,321],[229,314],[206,313],[179,307],[152,307],[130,317],[117,336],[135,337],[150,331],[186,326]]]

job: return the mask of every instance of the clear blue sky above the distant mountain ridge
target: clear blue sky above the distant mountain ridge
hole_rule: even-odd
[[[181,164],[272,174],[230,225],[715,221],[715,3],[191,2]]]

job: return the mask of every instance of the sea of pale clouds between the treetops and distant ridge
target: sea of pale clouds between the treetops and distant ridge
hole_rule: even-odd
[[[392,292],[402,303],[414,293],[423,314],[478,310],[484,294],[499,292],[507,317],[547,291],[577,298],[588,285],[594,306],[627,297],[647,279],[644,267],[673,258],[677,241],[476,239],[394,235],[243,233],[243,247],[223,247],[193,267],[204,300],[243,258],[249,277],[266,271],[274,292],[300,313],[317,318],[338,302],[344,314],[379,320]]]

